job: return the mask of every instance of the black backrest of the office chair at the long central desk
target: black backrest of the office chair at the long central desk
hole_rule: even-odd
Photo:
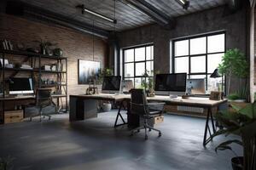
[[[131,114],[147,115],[148,101],[144,89],[131,89]]]

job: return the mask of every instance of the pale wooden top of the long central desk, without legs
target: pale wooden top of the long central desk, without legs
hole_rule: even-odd
[[[105,100],[123,100],[131,99],[131,94],[93,94],[93,95],[71,95],[72,97],[79,97],[83,99],[105,99]],[[182,99],[177,97],[172,99],[169,96],[155,95],[154,97],[147,97],[148,101],[161,101],[166,103],[172,103],[177,105],[196,105],[196,106],[214,106],[227,102],[227,99],[211,100],[209,98],[202,97],[189,97],[189,99]]]

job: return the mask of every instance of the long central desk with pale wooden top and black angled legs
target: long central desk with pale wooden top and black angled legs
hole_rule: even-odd
[[[74,99],[76,100],[74,102]],[[76,120],[83,120],[84,117],[81,115],[84,114],[83,112],[83,100],[109,100],[109,101],[114,101],[114,102],[122,102],[122,101],[128,101],[130,102],[131,95],[130,94],[119,94],[119,95],[114,95],[114,94],[94,94],[94,95],[70,95],[70,121],[76,121]],[[199,97],[190,97],[189,99],[181,99],[180,97],[177,99],[171,99],[169,96],[154,96],[154,97],[148,97],[148,101],[160,101],[160,102],[165,102],[166,105],[183,105],[183,106],[194,106],[194,107],[201,107],[204,109],[207,109],[207,120],[206,120],[206,127],[204,131],[204,139],[203,139],[203,145],[206,145],[209,141],[212,140],[212,134],[216,133],[216,127],[214,125],[214,119],[212,116],[212,108],[217,107],[219,105],[222,105],[227,102],[227,99],[222,99],[222,100],[210,100],[208,98],[199,98]],[[76,104],[75,104],[76,103]],[[82,106],[81,106],[82,104]],[[76,105],[73,107],[72,105]],[[78,107],[79,106],[79,107]],[[72,109],[73,108],[73,109]],[[119,106],[119,111],[120,111],[121,106]],[[78,111],[78,112],[77,112]],[[80,112],[81,111],[81,112]],[[79,113],[79,114],[78,114]],[[79,115],[75,117],[74,115]],[[131,119],[129,119],[129,108],[128,108],[128,125],[131,124],[129,122]],[[118,112],[118,116],[116,117],[116,122],[118,117],[120,116]],[[122,118],[122,117],[121,117]],[[122,118],[123,120],[123,118]],[[124,120],[123,120],[124,122]],[[210,127],[212,124],[212,128]],[[116,123],[115,123],[116,125]],[[208,136],[209,133],[209,137]]]

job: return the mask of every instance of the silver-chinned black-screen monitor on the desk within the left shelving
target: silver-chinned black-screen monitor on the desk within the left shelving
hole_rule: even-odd
[[[32,78],[9,78],[9,94],[33,94]]]

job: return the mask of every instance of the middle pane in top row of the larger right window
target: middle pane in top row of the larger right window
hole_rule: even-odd
[[[190,39],[190,54],[206,54],[207,53],[207,38],[199,37]]]

